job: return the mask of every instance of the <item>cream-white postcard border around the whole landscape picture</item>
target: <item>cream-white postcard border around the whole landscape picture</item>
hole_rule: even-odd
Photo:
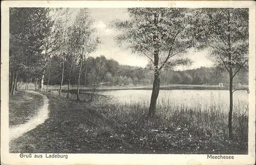
[[[248,155],[207,159],[199,154],[68,154],[60,158],[20,158],[9,153],[8,73],[9,7],[188,7],[249,8],[249,135]],[[253,164],[255,161],[255,2],[253,1],[4,1],[1,2],[1,164]],[[43,154],[45,155],[45,154]],[[45,156],[44,156],[45,157]]]

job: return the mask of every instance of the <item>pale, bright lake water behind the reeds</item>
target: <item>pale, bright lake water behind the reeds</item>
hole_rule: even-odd
[[[111,96],[113,102],[123,104],[142,103],[149,106],[152,90],[110,90],[100,92],[102,95]],[[183,106],[186,108],[216,109],[228,111],[228,90],[160,90],[158,105]],[[248,93],[238,90],[233,93],[234,110],[245,111],[248,106]]]

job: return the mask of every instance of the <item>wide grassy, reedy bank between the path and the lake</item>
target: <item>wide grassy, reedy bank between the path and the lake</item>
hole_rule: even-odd
[[[233,114],[235,140],[230,142],[228,115],[214,107],[158,106],[155,119],[146,121],[147,107],[141,103],[114,105],[106,100],[89,104],[66,99],[65,95],[47,96],[49,119],[15,139],[10,152],[247,154],[245,114]]]

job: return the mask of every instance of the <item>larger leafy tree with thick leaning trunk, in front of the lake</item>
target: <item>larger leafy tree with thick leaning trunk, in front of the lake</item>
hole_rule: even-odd
[[[148,117],[156,114],[162,69],[187,65],[190,60],[182,56],[194,45],[190,23],[198,16],[197,10],[185,8],[131,8],[130,19],[115,21],[121,32],[116,38],[133,52],[145,56],[154,71],[154,83]]]

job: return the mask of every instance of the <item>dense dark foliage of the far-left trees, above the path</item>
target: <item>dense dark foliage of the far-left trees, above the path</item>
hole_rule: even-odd
[[[24,79],[42,71],[51,23],[47,8],[10,8],[10,69]]]

